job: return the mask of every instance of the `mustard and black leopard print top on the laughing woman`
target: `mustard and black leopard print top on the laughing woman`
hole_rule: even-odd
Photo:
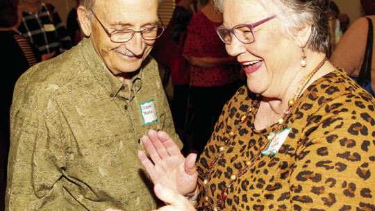
[[[210,162],[254,99],[244,86],[224,106],[197,162],[199,210],[207,205],[203,180]],[[272,126],[254,128],[257,110],[213,169],[208,197],[214,204],[231,175],[245,167],[272,131]],[[374,110],[374,98],[341,69],[319,78],[294,105],[285,124],[292,129],[278,152],[261,155],[217,210],[375,210]]]

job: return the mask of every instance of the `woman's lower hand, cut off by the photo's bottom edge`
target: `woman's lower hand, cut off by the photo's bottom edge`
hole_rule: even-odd
[[[155,184],[153,191],[161,201],[164,201],[165,204],[167,204],[158,209],[158,211],[196,211],[188,199],[172,191],[172,189],[157,183]]]

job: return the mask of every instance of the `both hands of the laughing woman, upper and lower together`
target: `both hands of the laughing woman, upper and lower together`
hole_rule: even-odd
[[[156,196],[166,204],[159,210],[195,210],[192,203],[197,198],[197,154],[185,158],[164,131],[149,130],[142,143],[151,160],[144,151],[138,151],[138,158],[155,184]]]

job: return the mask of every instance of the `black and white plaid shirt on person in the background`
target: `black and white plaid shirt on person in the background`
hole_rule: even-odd
[[[72,42],[55,7],[51,4],[49,6],[53,19],[46,4],[41,3],[40,10],[37,12],[22,12],[23,21],[18,30],[35,44],[41,53],[56,51],[55,56],[57,56],[72,48]]]

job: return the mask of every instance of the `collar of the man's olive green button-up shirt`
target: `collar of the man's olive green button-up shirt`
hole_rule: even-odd
[[[124,83],[119,81],[108,67],[104,64],[103,60],[97,54],[89,38],[83,38],[82,41],[82,55],[83,58],[88,62],[88,66],[94,74],[94,77],[97,79],[98,83],[106,90],[107,94],[111,99],[114,99],[115,96],[122,90],[122,87],[125,86]],[[131,86],[134,92],[138,92],[142,87],[142,78],[144,77],[144,62],[138,71],[138,74],[135,74],[131,78]],[[130,99],[130,97],[129,97]]]

